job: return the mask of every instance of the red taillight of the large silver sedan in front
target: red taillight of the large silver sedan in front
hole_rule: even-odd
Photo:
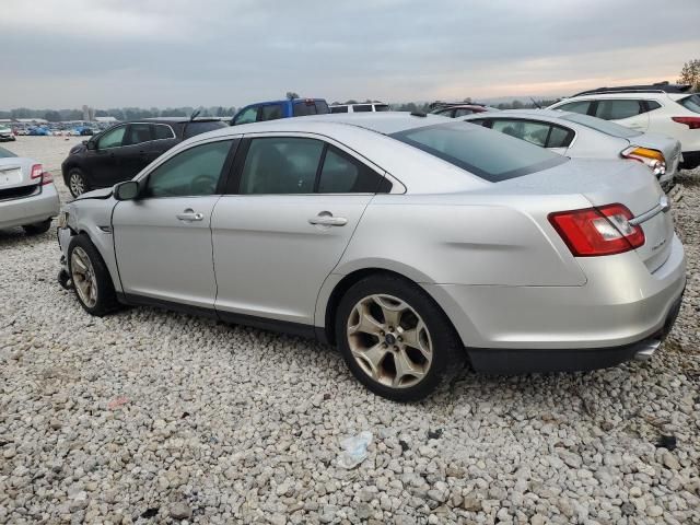
[[[558,211],[548,219],[575,257],[621,254],[644,244],[644,232],[630,224],[632,213],[622,205]]]

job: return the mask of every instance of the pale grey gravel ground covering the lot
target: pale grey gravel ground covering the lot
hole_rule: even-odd
[[[52,167],[70,143],[9,148]],[[90,317],[56,283],[52,232],[1,232],[0,523],[700,524],[700,171],[680,184],[688,288],[652,361],[465,373],[410,406],[307,340]],[[368,459],[340,468],[363,430]]]

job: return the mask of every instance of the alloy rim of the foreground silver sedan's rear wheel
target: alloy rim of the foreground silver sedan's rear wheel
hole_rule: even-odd
[[[432,364],[428,326],[408,303],[392,295],[358,301],[348,317],[347,337],[364,373],[393,388],[417,385]]]

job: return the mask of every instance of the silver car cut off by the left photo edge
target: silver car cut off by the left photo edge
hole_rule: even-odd
[[[59,208],[51,174],[40,163],[0,148],[0,229],[22,226],[28,235],[44,233]]]

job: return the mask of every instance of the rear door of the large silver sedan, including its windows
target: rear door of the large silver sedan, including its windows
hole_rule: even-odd
[[[313,325],[316,298],[375,191],[378,170],[311,135],[244,140],[212,214],[222,317]]]

